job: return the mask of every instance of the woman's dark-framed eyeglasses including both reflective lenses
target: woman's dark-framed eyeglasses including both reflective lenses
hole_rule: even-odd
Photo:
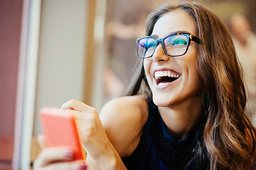
[[[191,35],[191,38],[189,37]],[[184,55],[187,52],[190,41],[200,43],[200,39],[191,33],[178,32],[167,35],[164,38],[146,36],[137,40],[137,53],[140,58],[149,58],[154,54],[156,47],[161,42],[166,55],[176,57]]]

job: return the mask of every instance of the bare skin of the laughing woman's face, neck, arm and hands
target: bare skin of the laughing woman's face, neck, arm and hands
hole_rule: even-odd
[[[175,24],[173,24],[175,23]],[[164,25],[164,27],[163,27]],[[153,33],[162,38],[172,31],[185,30],[196,35],[195,23],[183,11],[166,13],[155,24]],[[153,57],[144,60],[144,69],[148,84],[153,93],[154,103],[170,132],[177,139],[183,139],[193,128],[202,110],[202,94],[197,80],[195,60],[197,48],[191,42],[187,53],[180,57],[167,56],[158,45]],[[168,67],[181,73],[179,82],[164,90],[157,90],[153,85],[152,70],[156,67]],[[138,146],[143,125],[148,117],[147,99],[143,95],[126,96],[108,102],[97,111],[77,100],[70,100],[62,105],[67,114],[76,118],[80,143],[87,151],[86,165],[91,170],[125,170],[121,160],[133,153]],[[42,142],[43,138],[39,140]],[[35,170],[74,169],[79,161],[65,161],[66,148],[46,148],[34,164]],[[47,155],[53,155],[49,158]],[[72,156],[68,158],[72,159]],[[62,160],[64,162],[54,162]],[[65,165],[65,166],[64,166]],[[72,167],[72,168],[71,168]]]

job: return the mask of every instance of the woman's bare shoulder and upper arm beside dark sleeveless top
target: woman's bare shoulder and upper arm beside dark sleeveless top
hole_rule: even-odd
[[[136,149],[147,117],[148,104],[143,95],[116,98],[102,107],[100,120],[121,158]]]

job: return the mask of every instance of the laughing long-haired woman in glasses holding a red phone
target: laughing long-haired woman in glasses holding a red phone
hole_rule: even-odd
[[[197,3],[151,13],[125,97],[97,111],[62,105],[77,118],[90,169],[253,170],[256,129],[245,115],[241,66],[225,25]],[[72,109],[72,110],[71,110]],[[47,148],[35,169],[85,169],[65,148]]]

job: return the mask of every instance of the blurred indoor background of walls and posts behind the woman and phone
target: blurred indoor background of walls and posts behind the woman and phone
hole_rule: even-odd
[[[256,1],[195,0],[228,26],[256,110]],[[125,91],[146,16],[174,0],[0,0],[0,169],[29,169],[38,111],[75,98],[100,112]]]

